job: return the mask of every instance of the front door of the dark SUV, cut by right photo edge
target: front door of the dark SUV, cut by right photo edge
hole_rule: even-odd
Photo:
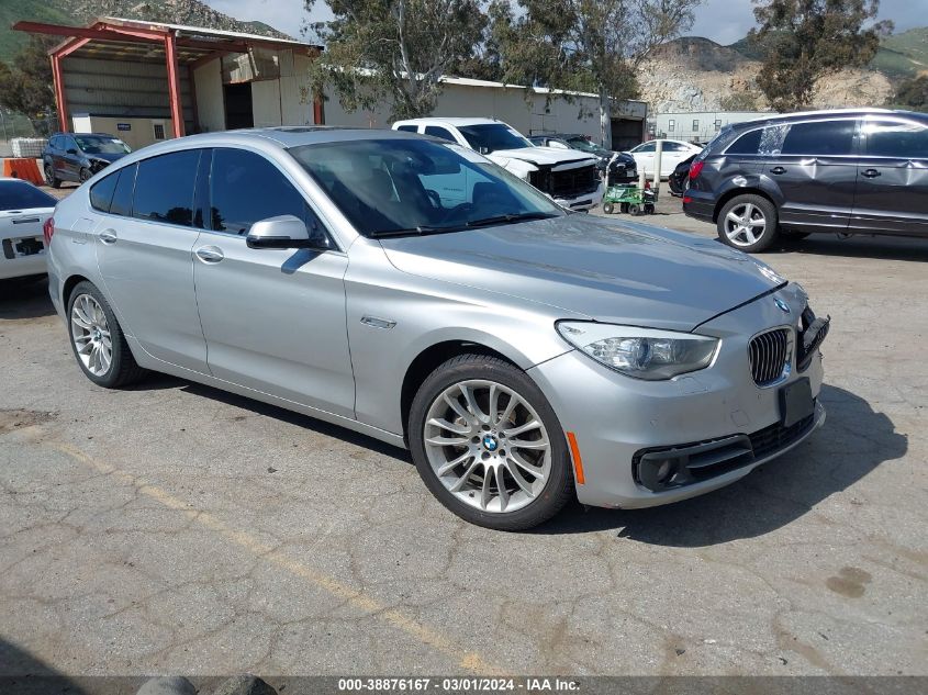
[[[850,227],[928,236],[928,120],[868,116]]]

